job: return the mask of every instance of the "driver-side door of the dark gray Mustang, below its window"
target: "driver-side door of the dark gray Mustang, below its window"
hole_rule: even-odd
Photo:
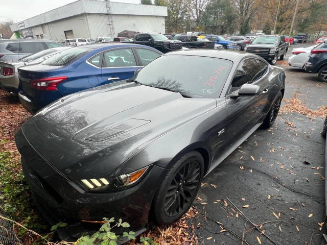
[[[228,111],[226,135],[230,136],[226,139],[228,144],[235,142],[246,134],[262,115],[262,112],[258,109],[259,103],[263,100],[262,96],[258,94],[236,98],[229,96],[231,93],[236,93],[243,84],[253,83],[255,75],[261,70],[256,60],[255,58],[247,58],[239,63],[227,92],[225,98]],[[260,84],[256,85],[260,86]]]

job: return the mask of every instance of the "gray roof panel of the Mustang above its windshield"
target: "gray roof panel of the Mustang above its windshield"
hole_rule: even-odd
[[[250,53],[246,53],[243,51],[234,51],[234,50],[211,50],[205,48],[190,48],[189,50],[181,50],[181,51],[174,51],[166,55],[189,55],[189,56],[202,56],[202,57],[212,57],[212,58],[220,58],[226,60],[235,60],[240,59],[242,57],[256,57],[255,55],[251,55]]]

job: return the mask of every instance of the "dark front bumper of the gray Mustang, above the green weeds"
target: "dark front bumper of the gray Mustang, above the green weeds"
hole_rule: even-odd
[[[41,157],[21,129],[17,131],[15,140],[25,178],[39,210],[51,225],[68,223],[59,231],[61,239],[78,238],[83,232],[98,230],[100,225],[90,225],[81,220],[101,221],[103,217],[122,218],[131,225],[129,229],[136,235],[147,229],[151,202],[167,169],[153,166],[140,183],[129,189],[87,192]],[[116,231],[118,234],[121,232]]]

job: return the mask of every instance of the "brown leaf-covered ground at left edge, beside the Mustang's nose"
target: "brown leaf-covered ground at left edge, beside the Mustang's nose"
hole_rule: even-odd
[[[14,135],[31,114],[19,103],[16,95],[0,90],[0,149],[17,152]]]

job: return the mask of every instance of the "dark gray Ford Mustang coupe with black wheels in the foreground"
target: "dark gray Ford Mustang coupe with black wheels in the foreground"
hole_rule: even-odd
[[[15,135],[22,167],[61,238],[103,217],[174,222],[202,178],[260,126],[270,127],[285,90],[282,68],[216,50],[162,55],[132,79],[63,97]],[[267,136],[268,137],[268,136]]]

